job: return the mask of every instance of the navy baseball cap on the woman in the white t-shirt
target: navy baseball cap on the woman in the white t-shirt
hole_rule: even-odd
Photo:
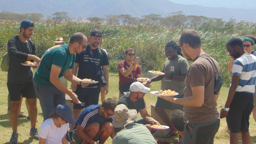
[[[69,124],[75,123],[75,119],[72,117],[72,109],[67,104],[59,104],[56,107],[56,114],[67,120]]]

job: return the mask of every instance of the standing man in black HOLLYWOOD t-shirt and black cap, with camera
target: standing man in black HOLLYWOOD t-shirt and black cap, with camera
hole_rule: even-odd
[[[82,109],[89,105],[95,105],[99,102],[100,87],[103,87],[104,93],[107,94],[109,91],[109,59],[105,51],[99,48],[101,42],[102,33],[99,29],[93,29],[89,35],[89,44],[86,45],[85,51],[81,54],[76,55],[75,67],[72,73],[80,79],[88,78],[91,80],[98,81],[96,84],[90,84],[87,87],[81,87],[81,85],[71,84],[71,89],[78,96],[78,99],[82,104],[75,104],[73,106],[73,117],[75,120],[79,117]],[[77,72],[77,68],[78,72]],[[102,69],[103,71],[102,71]],[[101,77],[104,76],[105,85],[101,81]],[[70,125],[70,136],[71,130],[74,125]],[[72,137],[71,137],[72,138]]]

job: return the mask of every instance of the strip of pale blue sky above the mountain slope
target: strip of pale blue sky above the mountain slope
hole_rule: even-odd
[[[256,0],[169,0],[180,4],[256,10]]]

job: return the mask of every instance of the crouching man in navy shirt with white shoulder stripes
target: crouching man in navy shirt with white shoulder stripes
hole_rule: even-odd
[[[112,98],[104,100],[102,105],[97,104],[86,107],[73,128],[73,140],[77,144],[103,144],[111,134],[111,138],[113,138],[115,107],[116,101]]]

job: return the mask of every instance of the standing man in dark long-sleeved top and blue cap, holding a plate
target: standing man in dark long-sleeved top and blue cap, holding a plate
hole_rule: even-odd
[[[37,128],[35,128],[35,122],[37,119],[37,97],[33,88],[33,73],[30,66],[23,66],[20,63],[25,61],[34,61],[40,63],[41,59],[35,56],[35,44],[30,40],[34,30],[34,23],[29,19],[24,19],[20,24],[20,32],[15,37],[9,39],[7,44],[8,55],[10,59],[10,65],[7,76],[7,87],[11,99],[11,126],[12,136],[10,143],[17,143],[18,132],[18,107],[20,104],[20,95],[27,99],[30,113],[30,136],[35,139],[39,139]],[[37,66],[33,67],[37,68]]]

